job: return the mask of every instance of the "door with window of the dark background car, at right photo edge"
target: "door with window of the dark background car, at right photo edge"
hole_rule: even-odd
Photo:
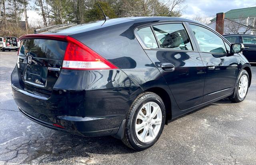
[[[242,35],[244,50],[243,55],[249,62],[256,62],[256,36]]]

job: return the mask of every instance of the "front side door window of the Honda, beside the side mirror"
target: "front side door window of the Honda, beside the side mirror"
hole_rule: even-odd
[[[202,52],[227,53],[222,38],[201,26],[190,25]]]

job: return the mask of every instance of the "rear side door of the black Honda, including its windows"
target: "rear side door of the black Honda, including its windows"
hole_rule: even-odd
[[[182,22],[138,28],[144,50],[165,78],[179,108],[202,103],[204,65]]]

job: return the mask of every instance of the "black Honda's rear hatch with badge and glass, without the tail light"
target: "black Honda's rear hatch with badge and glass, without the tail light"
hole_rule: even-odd
[[[62,68],[62,61],[68,45],[65,36],[24,36],[18,52],[17,66],[21,82],[28,90],[51,94]]]

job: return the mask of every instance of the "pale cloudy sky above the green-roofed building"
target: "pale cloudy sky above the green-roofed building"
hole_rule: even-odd
[[[186,0],[187,8],[182,17],[216,16],[219,12],[228,12],[232,9],[255,7],[256,0]]]

